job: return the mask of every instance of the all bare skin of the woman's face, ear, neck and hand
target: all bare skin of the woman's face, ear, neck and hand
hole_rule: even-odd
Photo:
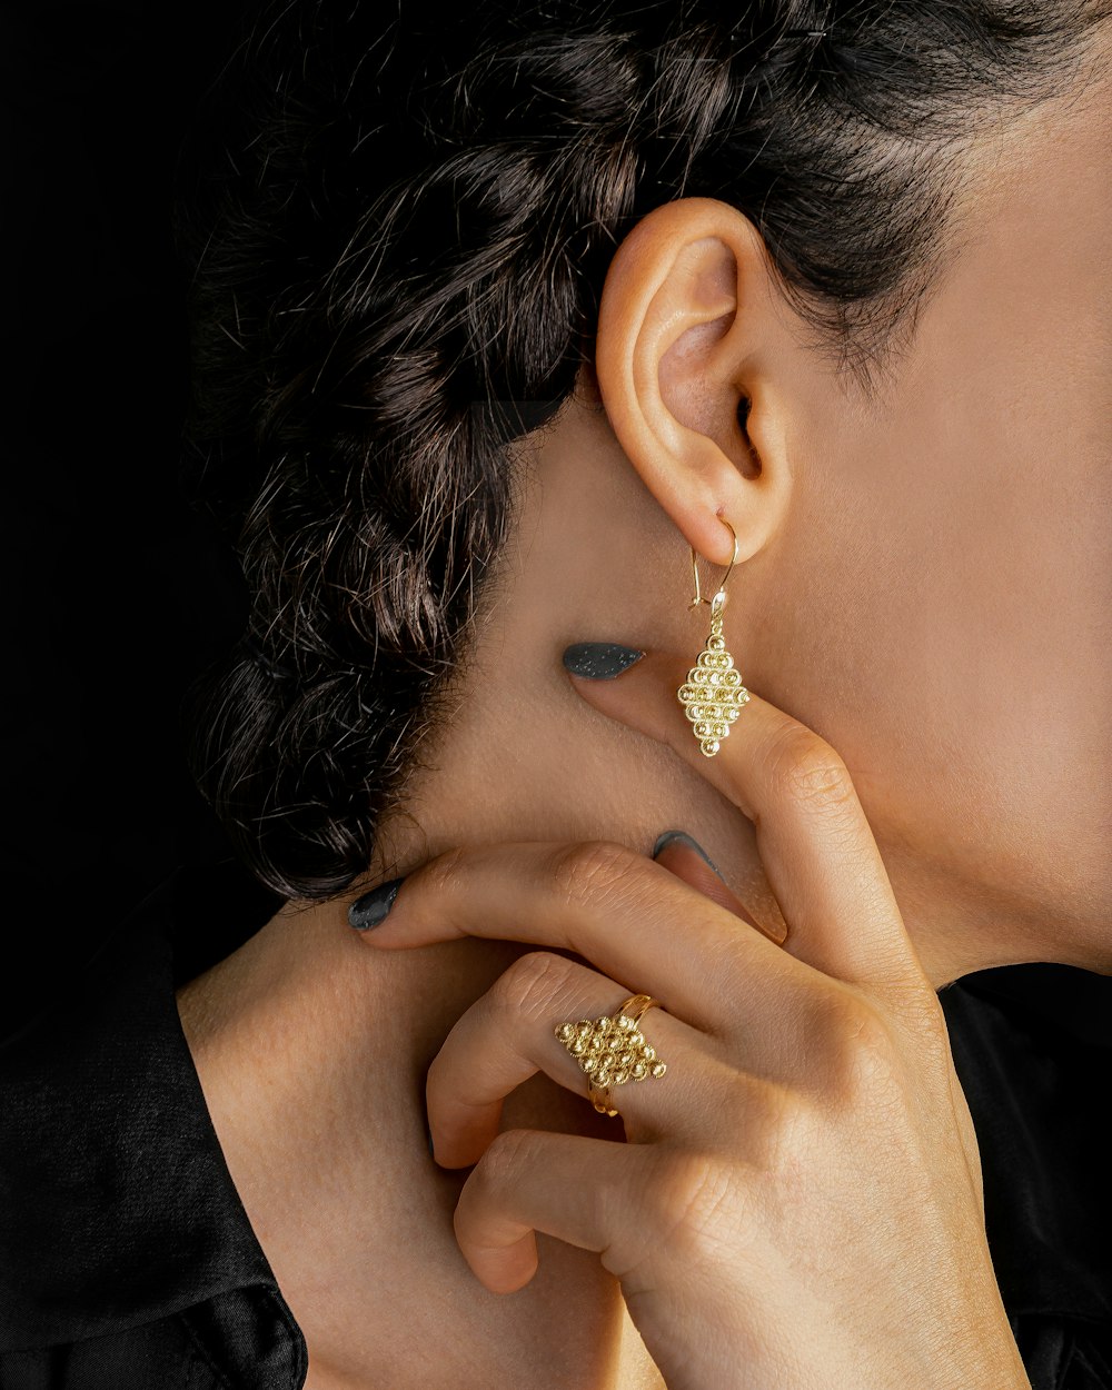
[[[182,991],[310,1390],[1027,1383],[934,990],[1112,973],[1111,95],[1094,68],[983,138],[877,398],[737,210],[685,199],[617,249],[595,371],[523,448],[471,651],[353,890],[417,870],[389,926],[289,903]],[[705,759],[674,689],[708,632],[689,546],[710,594],[721,516],[753,701]],[[580,641],[646,656],[573,681]],[[653,865],[669,828],[724,884]],[[619,1145],[552,1027],[641,990],[670,1072],[626,1088]],[[488,1152],[498,1126],[549,1137]],[[721,1201],[673,1241],[692,1163]]]

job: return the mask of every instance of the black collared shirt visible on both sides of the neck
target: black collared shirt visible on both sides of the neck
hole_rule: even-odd
[[[0,1044],[0,1390],[303,1386],[174,1002],[271,908],[179,870]],[[1112,1390],[1108,1033],[1005,977],[941,992],[1001,1294],[1034,1390]]]

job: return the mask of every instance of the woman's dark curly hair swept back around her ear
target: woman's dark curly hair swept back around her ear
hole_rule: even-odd
[[[281,0],[197,113],[189,491],[246,631],[190,762],[284,897],[366,869],[589,360],[624,232],[703,195],[866,391],[952,253],[963,156],[1076,78],[1109,0]]]

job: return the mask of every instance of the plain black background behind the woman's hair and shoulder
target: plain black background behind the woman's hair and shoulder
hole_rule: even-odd
[[[170,239],[178,149],[240,10],[0,7],[8,1026],[181,863],[225,915],[240,894],[245,922],[264,920],[193,790],[178,714],[240,623],[227,556],[177,491]],[[1112,1040],[1108,979],[1022,966],[970,983]]]

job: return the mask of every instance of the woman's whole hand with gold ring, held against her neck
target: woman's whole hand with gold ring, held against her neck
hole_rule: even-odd
[[[534,1232],[599,1251],[671,1390],[1027,1387],[942,1012],[848,771],[756,696],[703,758],[674,695],[687,664],[649,655],[575,685],[755,823],[784,947],[609,841],[452,849],[367,934],[538,947],[428,1073],[436,1161],[475,1165],[463,1255],[509,1293],[535,1272]],[[639,992],[664,1006],[639,1029],[667,1073],[612,1090],[616,1141],[499,1133],[538,1070],[585,1097],[555,1029]]]

